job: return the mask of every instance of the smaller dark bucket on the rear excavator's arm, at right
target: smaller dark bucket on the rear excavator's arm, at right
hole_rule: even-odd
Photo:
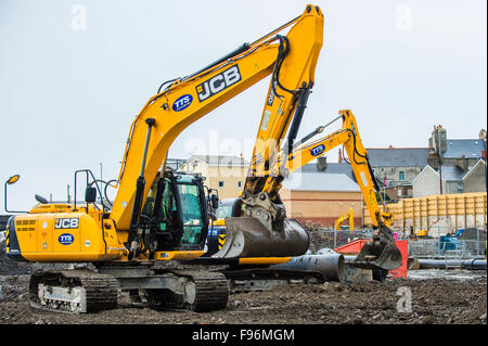
[[[401,266],[401,253],[395,245],[391,230],[381,226],[373,234],[373,241],[365,243],[352,261],[362,269],[394,270]]]

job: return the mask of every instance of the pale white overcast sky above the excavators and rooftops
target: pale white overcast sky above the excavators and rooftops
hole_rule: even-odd
[[[130,124],[160,82],[252,42],[307,3],[0,0],[1,192],[21,175],[9,208],[30,208],[35,193],[66,200],[75,169],[117,178]],[[298,137],[343,108],[367,148],[425,148],[438,124],[451,139],[486,129],[486,0],[313,4],[325,14],[324,46]],[[248,155],[268,84],[193,124],[169,156]]]

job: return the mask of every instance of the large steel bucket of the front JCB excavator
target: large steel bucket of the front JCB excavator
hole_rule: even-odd
[[[304,255],[308,233],[295,219],[284,219],[282,231],[269,231],[254,217],[227,217],[226,242],[211,257],[287,257]]]

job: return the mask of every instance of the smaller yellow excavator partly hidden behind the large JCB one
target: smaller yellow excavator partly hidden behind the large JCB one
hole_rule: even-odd
[[[342,119],[342,128],[331,134],[322,137],[317,140],[311,140],[313,137],[322,133],[324,129]],[[311,140],[311,141],[310,141]],[[339,116],[334,118],[332,121],[324,126],[318,127],[314,131],[305,136],[301,140],[294,144],[293,150],[290,154],[285,152],[280,152],[278,159],[272,167],[272,170],[281,170],[280,177],[286,177],[292,171],[299,169],[305,164],[311,162],[318,156],[329,152],[330,150],[343,145],[346,150],[347,156],[349,157],[352,171],[355,174],[356,180],[361,190],[363,200],[368,209],[370,212],[371,218],[373,220],[374,233],[373,240],[368,242],[361,249],[361,252],[356,257],[354,265],[363,269],[372,269],[375,271],[387,271],[398,268],[401,265],[401,253],[395,245],[395,239],[393,236],[390,227],[391,214],[388,212],[387,206],[384,201],[381,200],[383,204],[383,210],[381,209],[376,195],[381,198],[380,187],[375,180],[373,170],[369,163],[368,152],[362,145],[362,141],[359,134],[358,125],[356,117],[348,110],[339,111]],[[275,180],[273,191],[277,191],[281,187],[281,181]],[[247,205],[245,198],[227,198],[222,201],[221,209],[218,210],[217,215],[219,219],[216,222],[216,229],[219,234],[209,239],[214,244],[208,246],[213,252],[207,252],[205,257],[211,258],[226,258],[226,254],[232,252],[232,246],[235,240],[232,239],[236,233],[227,233],[226,226],[228,222],[233,222],[236,217],[247,214]],[[347,216],[347,218],[349,215]],[[232,225],[232,223],[231,223]],[[219,236],[223,234],[223,236]],[[218,243],[217,243],[218,242]],[[240,264],[243,266],[249,265],[264,265],[264,264],[280,264],[290,260],[291,257],[286,258],[240,258],[235,259],[223,259],[218,262],[233,264],[234,266]],[[197,260],[195,261],[197,262]],[[211,260],[205,260],[206,264],[211,262]]]

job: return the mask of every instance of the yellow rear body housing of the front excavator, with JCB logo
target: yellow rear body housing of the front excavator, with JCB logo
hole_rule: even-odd
[[[69,205],[46,205],[53,213],[46,213],[48,208],[42,207],[9,221],[9,256],[17,252],[28,261],[105,261],[123,257],[126,248],[114,222],[104,220],[102,229],[101,214],[92,205],[88,213],[86,207],[66,212]]]

